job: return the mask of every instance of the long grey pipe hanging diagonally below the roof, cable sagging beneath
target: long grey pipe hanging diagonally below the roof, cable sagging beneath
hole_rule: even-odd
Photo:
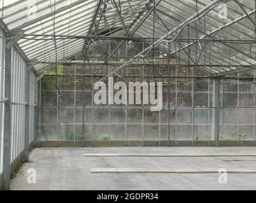
[[[133,56],[131,58],[131,60],[129,60],[128,62],[124,63],[123,65],[121,65],[117,70],[111,72],[110,74],[106,75],[105,77],[103,77],[103,79],[97,81],[97,82],[101,82],[104,81],[105,79],[107,79],[108,77],[110,77],[111,75],[113,75],[115,72],[117,72],[118,70],[122,69],[123,67],[126,67],[127,65],[131,64],[132,62],[134,62],[135,60],[137,60],[139,57],[145,57],[150,50],[155,47],[158,46],[160,43],[162,42],[167,42],[167,43],[171,43],[173,42],[181,33],[181,31],[184,29],[185,26],[189,25],[190,23],[195,22],[196,20],[198,20],[201,16],[206,15],[209,11],[213,10],[213,8],[215,8],[217,6],[218,3],[220,3],[221,0],[215,0],[212,3],[208,4],[207,6],[205,6],[202,10],[198,11],[198,15],[196,13],[196,15],[191,16],[190,18],[188,18],[187,20],[185,20],[183,23],[181,23],[180,25],[178,25],[176,28],[174,28],[173,30],[171,30],[170,32],[168,32],[165,36],[161,37],[158,41],[156,41],[156,43],[148,46],[148,48],[144,49],[143,51],[141,51],[140,53],[138,53],[138,55]],[[180,30],[179,30],[180,29]],[[178,31],[179,30],[179,31]],[[166,37],[170,36],[171,34],[173,34],[174,32],[177,32],[176,36],[171,39],[170,41],[166,40]],[[143,55],[146,52],[145,55]],[[96,84],[97,82],[95,82],[94,84]],[[93,84],[93,85],[94,85]]]

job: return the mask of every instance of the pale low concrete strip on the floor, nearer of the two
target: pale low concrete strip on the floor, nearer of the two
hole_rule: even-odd
[[[90,168],[90,173],[218,173],[218,169]],[[256,169],[227,169],[227,173],[256,173]]]

